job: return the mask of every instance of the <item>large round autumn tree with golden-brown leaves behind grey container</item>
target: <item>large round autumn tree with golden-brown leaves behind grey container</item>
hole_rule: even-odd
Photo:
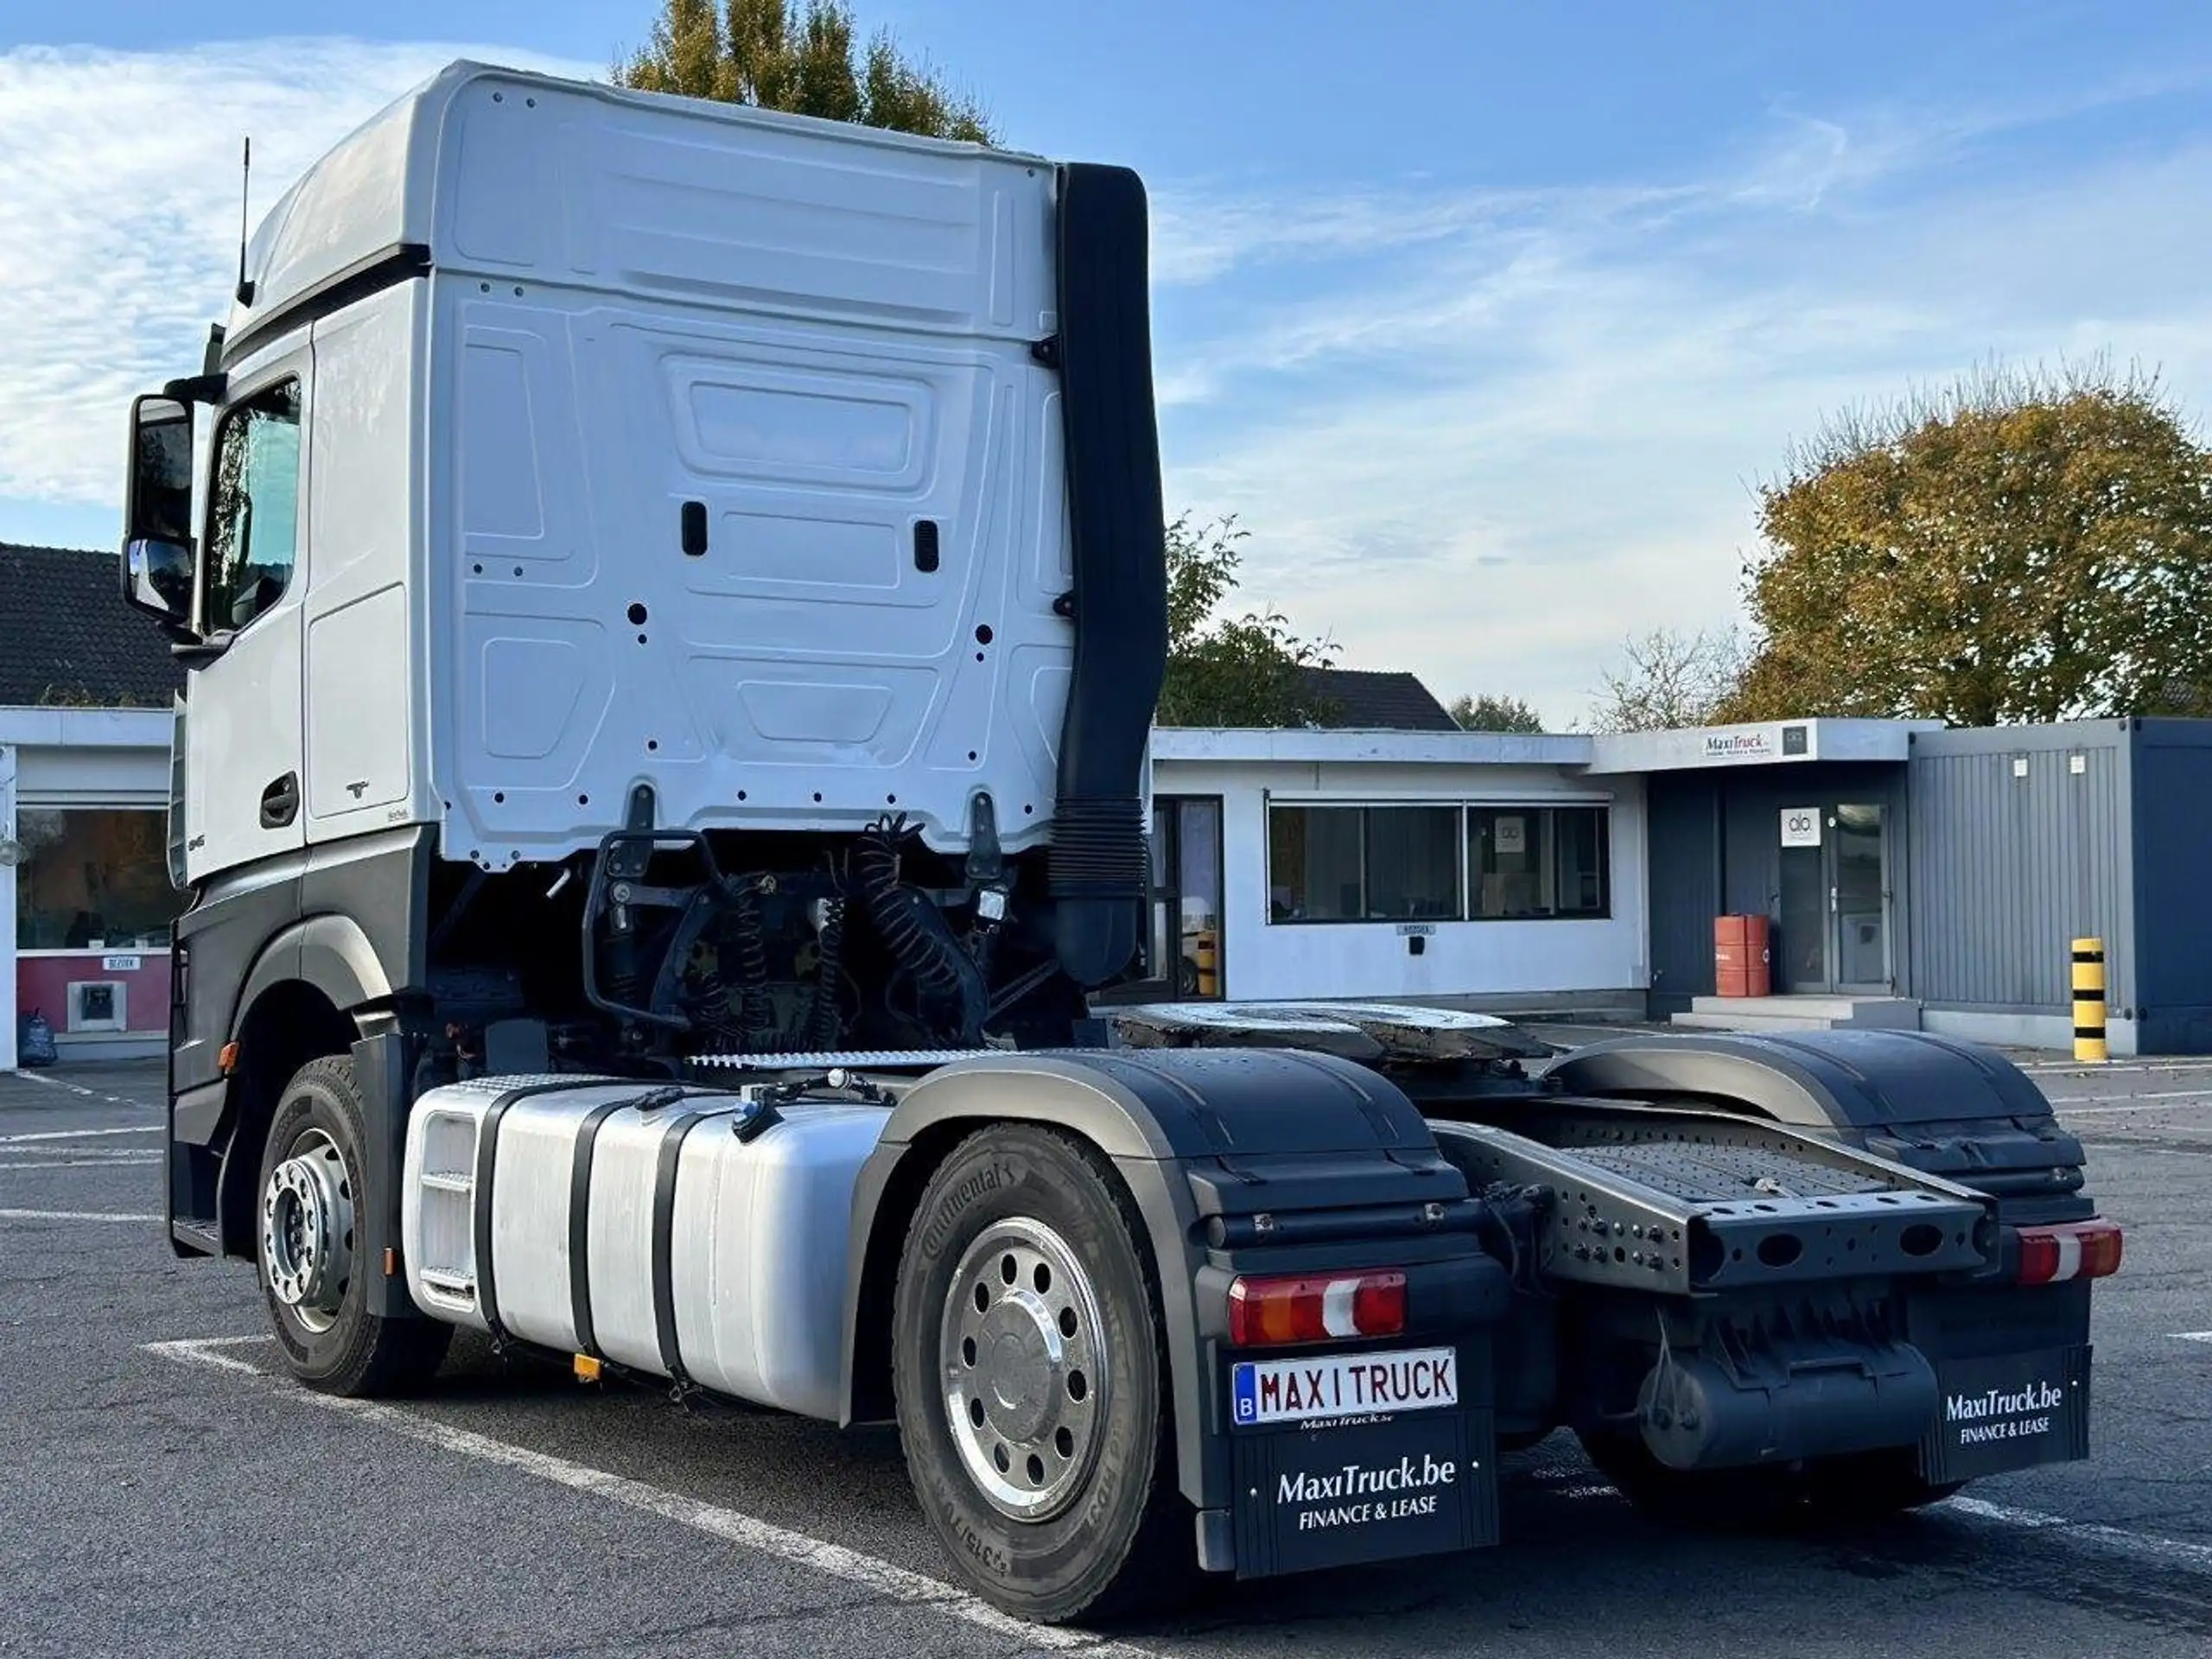
[[[1986,369],[1761,489],[1730,719],[2212,712],[2212,458],[2154,378]]]

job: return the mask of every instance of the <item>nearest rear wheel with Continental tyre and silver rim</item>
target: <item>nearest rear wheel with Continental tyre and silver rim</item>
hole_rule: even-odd
[[[1141,1221],[1082,1141],[978,1130],[907,1232],[898,1433],[922,1513],[1024,1619],[1128,1617],[1194,1577]]]

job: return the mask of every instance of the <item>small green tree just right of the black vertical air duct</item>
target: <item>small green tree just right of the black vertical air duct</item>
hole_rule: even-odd
[[[1281,611],[1219,617],[1237,591],[1237,544],[1225,518],[1168,526],[1168,677],[1161,726],[1310,726],[1334,717],[1307,670],[1329,666],[1325,639],[1301,639]]]

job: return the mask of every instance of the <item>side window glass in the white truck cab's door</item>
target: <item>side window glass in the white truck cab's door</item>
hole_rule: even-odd
[[[208,511],[206,630],[237,630],[283,597],[299,557],[299,380],[223,411]]]

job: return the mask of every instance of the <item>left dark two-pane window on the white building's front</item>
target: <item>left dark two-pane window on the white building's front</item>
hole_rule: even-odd
[[[1458,920],[1458,807],[1274,807],[1267,916],[1276,922]]]

